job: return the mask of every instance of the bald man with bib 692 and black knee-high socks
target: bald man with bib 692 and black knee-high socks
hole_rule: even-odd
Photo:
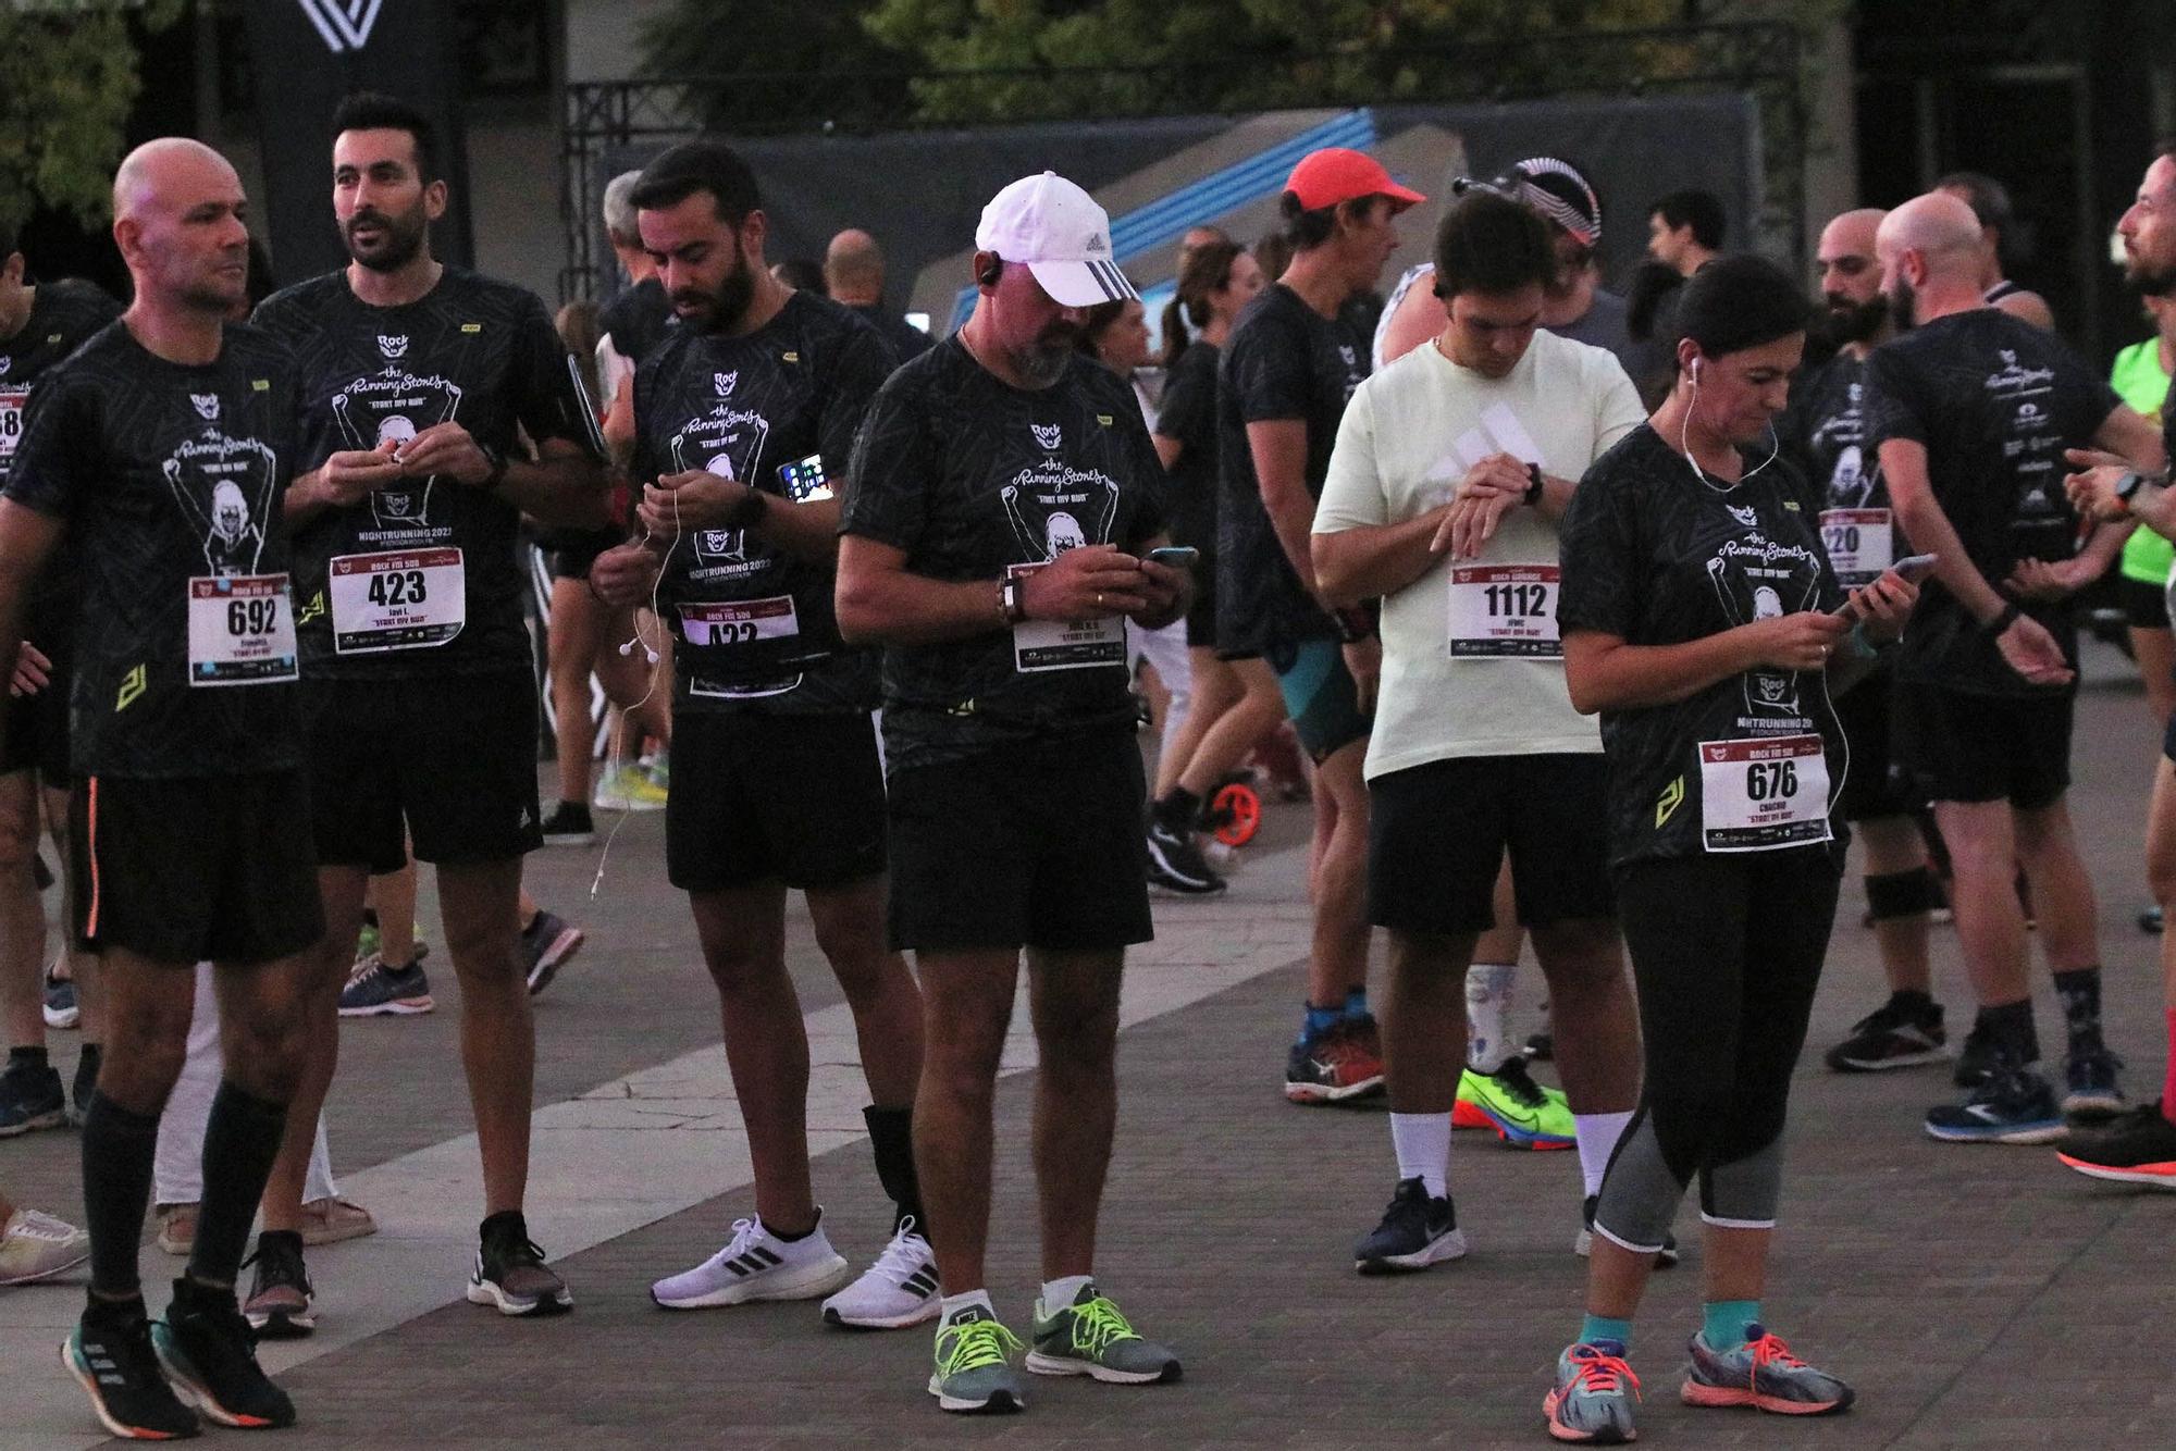
[[[248,283],[242,213],[235,170],[207,146],[148,141],[122,161],[113,239],[135,302],[39,381],[0,500],[0,659],[63,535],[96,620],[72,687],[70,814],[96,883],[74,927],[102,955],[111,1038],[83,1118],[91,1290],[61,1357],[100,1423],[137,1438],[198,1431],[170,1379],[224,1425],[294,1423],[233,1288],[296,1094],[296,1005],[324,933],[281,518],[294,359],[224,326]],[[189,1268],[154,1347],[137,1244],[200,959],[226,1068]]]

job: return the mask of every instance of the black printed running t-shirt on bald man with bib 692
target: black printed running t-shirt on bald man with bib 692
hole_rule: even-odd
[[[302,764],[281,518],[294,420],[294,357],[248,326],[183,365],[115,322],[39,383],[7,496],[65,520],[74,548],[78,777]]]

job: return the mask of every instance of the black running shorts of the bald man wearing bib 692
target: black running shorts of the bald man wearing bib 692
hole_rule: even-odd
[[[324,935],[300,770],[87,777],[67,818],[83,881],[76,933],[94,951],[242,966],[292,957]]]

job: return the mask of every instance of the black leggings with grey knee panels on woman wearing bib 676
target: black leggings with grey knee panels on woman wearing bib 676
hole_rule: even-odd
[[[1776,1223],[1791,1068],[1806,1044],[1837,883],[1828,846],[1617,870],[1647,1077],[1595,1210],[1610,1240],[1660,1249],[1693,1175],[1710,1225]]]

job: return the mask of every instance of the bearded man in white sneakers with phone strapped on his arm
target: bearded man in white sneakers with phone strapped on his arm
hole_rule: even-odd
[[[890,1247],[825,1301],[825,1318],[916,1325],[938,1312],[910,1127],[923,1005],[883,946],[877,661],[840,642],[831,605],[838,481],[892,350],[846,307],[770,276],[768,218],[733,150],[675,146],[631,200],[681,324],[629,385],[644,537],[601,555],[590,583],[611,605],[655,600],[675,627],[666,875],[688,892],[718,985],[755,1164],[755,1216],[651,1299],[816,1299],[846,1279],[809,1188],[792,888],[853,1007],[875,1101],[864,1116],[894,1201]]]

